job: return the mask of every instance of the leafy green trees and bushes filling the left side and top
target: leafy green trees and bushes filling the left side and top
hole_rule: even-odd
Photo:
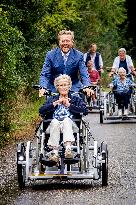
[[[127,42],[123,38],[127,26],[121,27],[126,19],[124,2],[125,0],[2,1],[1,135],[4,136],[11,127],[17,126],[14,117],[18,119],[18,116],[15,113],[25,112],[25,99],[35,100],[32,97],[32,84],[39,81],[44,56],[57,45],[59,30],[73,30],[75,46],[83,52],[88,50],[90,43],[96,42],[104,65],[111,66],[118,46]],[[19,108],[18,103],[21,103]]]

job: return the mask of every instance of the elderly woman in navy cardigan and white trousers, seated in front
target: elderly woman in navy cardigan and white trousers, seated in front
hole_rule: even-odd
[[[63,74],[55,78],[54,86],[58,95],[49,97],[39,112],[41,115],[45,115],[45,118],[52,119],[46,131],[50,133],[48,146],[54,150],[50,160],[57,161],[60,132],[63,133],[66,147],[65,158],[73,157],[71,151],[71,145],[75,141],[73,132],[78,132],[77,124],[73,119],[81,118],[81,113],[86,115],[87,108],[79,95],[70,92],[72,81],[68,75]]]

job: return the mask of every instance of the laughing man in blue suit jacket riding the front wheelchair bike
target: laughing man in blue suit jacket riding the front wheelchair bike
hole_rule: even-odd
[[[43,96],[46,88],[55,92],[54,79],[60,74],[67,74],[71,77],[71,91],[77,92],[80,88],[90,85],[87,68],[83,60],[83,53],[73,48],[74,33],[62,30],[58,34],[59,47],[49,51],[45,57],[45,62],[40,75],[39,96]],[[92,94],[92,90],[85,88],[87,95]]]

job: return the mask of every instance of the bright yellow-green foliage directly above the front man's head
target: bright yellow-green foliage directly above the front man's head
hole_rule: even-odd
[[[49,0],[46,1],[46,13],[38,22],[38,28],[42,32],[49,32],[49,35],[54,32],[68,28],[68,22],[78,22],[81,18],[78,17],[77,12],[78,2],[74,0]],[[69,9],[68,9],[69,8]],[[54,36],[56,39],[56,35]]]

